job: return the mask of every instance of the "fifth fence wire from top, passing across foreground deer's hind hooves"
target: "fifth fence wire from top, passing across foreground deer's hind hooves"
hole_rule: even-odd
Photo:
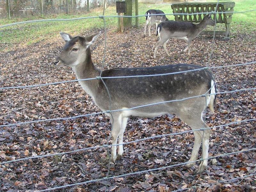
[[[96,179],[96,180],[89,180],[89,181],[69,184],[69,185],[60,186],[60,187],[44,189],[44,190],[40,190],[40,191],[37,191],[37,192],[43,192],[43,191],[49,191],[49,190],[54,190],[54,189],[66,188],[66,187],[71,187],[71,186],[75,186],[75,185],[82,185],[82,184],[86,184],[86,183],[92,183],[92,182],[97,182],[97,181],[102,181],[102,180],[107,180],[107,179],[114,179],[114,178],[117,178],[117,177],[124,177],[124,176],[128,176],[128,175],[140,174],[140,173],[145,173],[145,172],[152,172],[152,171],[157,171],[159,169],[166,169],[166,168],[170,168],[170,167],[174,167],[174,166],[185,165],[185,164],[188,164],[188,163],[196,163],[196,162],[200,162],[200,161],[203,161],[203,160],[214,159],[214,158],[218,158],[218,157],[222,157],[222,156],[228,156],[228,155],[233,155],[233,154],[237,154],[237,153],[244,153],[244,152],[254,151],[254,150],[256,150],[256,148],[251,148],[251,149],[246,149],[246,150],[241,150],[241,151],[236,151],[236,152],[231,152],[231,153],[224,153],[224,154],[221,154],[221,155],[218,155],[218,156],[208,157],[206,159],[198,159],[196,161],[174,164],[174,165],[159,167],[159,168],[155,168],[155,169],[149,169],[149,170],[145,170],[145,171],[126,173],[126,174],[123,174],[123,175],[117,175],[117,176],[112,176],[112,177],[108,177],[108,178],[104,177],[104,178],[100,178],[100,179]]]

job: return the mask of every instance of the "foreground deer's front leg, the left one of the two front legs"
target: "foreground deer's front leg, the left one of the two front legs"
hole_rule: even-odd
[[[113,119],[114,118],[114,119]],[[122,127],[122,116],[113,116],[111,118],[112,121],[112,131],[111,131],[111,137],[112,137],[112,145],[116,145],[117,143],[117,137],[120,133],[121,127]],[[112,146],[111,148],[111,158],[110,161],[115,163],[116,161],[116,146]]]

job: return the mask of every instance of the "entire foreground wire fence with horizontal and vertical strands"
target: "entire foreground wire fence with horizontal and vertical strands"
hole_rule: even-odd
[[[218,6],[218,4],[217,4],[217,6]],[[216,6],[216,9],[217,9],[217,6]],[[255,11],[255,10],[250,10],[250,11]],[[243,11],[243,12],[247,12],[247,11]],[[232,12],[232,13],[241,13],[241,12]],[[179,13],[179,14],[181,14],[181,13]],[[191,13],[191,14],[196,14],[196,13]],[[184,15],[191,15],[191,14],[184,13]],[[213,11],[212,14],[216,14],[216,10],[215,10],[215,12]],[[174,14],[166,14],[166,15],[174,15]],[[103,15],[103,16],[98,16],[98,17],[60,19],[60,20],[66,20],[66,21],[68,21],[68,20],[78,20],[78,19],[88,19],[88,18],[91,18],[91,19],[92,18],[101,18],[101,19],[103,19],[104,30],[105,30],[104,31],[105,32],[104,33],[105,42],[104,42],[104,56],[103,56],[103,60],[102,60],[101,72],[102,72],[104,61],[105,61],[105,57],[106,57],[107,33],[106,33],[105,18],[110,18],[110,17],[122,17],[122,16],[104,16]],[[144,17],[144,15],[123,16],[123,17],[126,17],[126,18],[136,18],[136,17]],[[41,22],[41,21],[56,21],[56,20],[24,21],[24,22],[19,22],[19,23],[12,23],[12,24],[3,25],[3,26],[0,26],[0,28],[9,27],[9,26],[12,26],[12,25],[17,25],[17,24],[25,24],[25,23],[29,23],[29,22]],[[214,36],[215,36],[215,34],[213,35],[212,45],[214,43]],[[209,61],[211,59],[212,52],[213,52],[213,46],[211,46],[211,53],[210,53],[210,56],[209,56],[208,63],[209,63]],[[175,72],[175,73],[155,74],[155,75],[136,75],[136,76],[101,77],[102,73],[100,72],[100,76],[96,76],[94,78],[80,79],[80,80],[70,80],[70,81],[62,81],[62,82],[52,82],[52,83],[47,83],[47,84],[36,84],[36,85],[26,85],[26,86],[12,86],[12,87],[0,87],[0,90],[24,89],[24,88],[33,88],[33,87],[39,87],[39,86],[48,86],[48,85],[53,85],[53,84],[72,83],[72,82],[78,82],[78,81],[91,81],[91,80],[99,80],[99,81],[102,81],[104,83],[104,79],[107,79],[107,78],[138,78],[138,77],[143,78],[143,77],[151,77],[151,76],[167,76],[167,75],[187,73],[187,72],[193,72],[193,71],[199,71],[199,70],[208,70],[208,69],[214,69],[214,68],[231,68],[231,67],[239,67],[239,66],[253,66],[255,64],[256,64],[256,61],[252,61],[252,62],[248,62],[248,63],[241,63],[241,64],[228,65],[228,66],[223,65],[223,66],[216,66],[216,67],[204,67],[204,68],[188,70],[188,71],[179,71],[179,72]],[[108,87],[106,86],[106,84],[105,84],[105,88],[108,91]],[[133,108],[128,108],[128,109],[111,110],[111,105],[110,105],[109,110],[103,111],[103,112],[99,112],[99,113],[85,114],[85,115],[65,117],[65,118],[42,119],[42,120],[35,120],[35,121],[28,121],[28,122],[20,122],[20,123],[15,123],[15,124],[2,124],[2,125],[0,125],[0,127],[10,127],[10,126],[17,126],[17,125],[22,125],[22,124],[33,124],[33,123],[36,123],[36,122],[44,122],[44,121],[67,120],[67,119],[74,119],[74,118],[78,118],[78,117],[99,115],[99,114],[103,114],[103,113],[108,113],[108,114],[110,114],[112,116],[112,113],[115,113],[115,112],[118,112],[118,111],[132,110],[132,109],[136,109],[136,108],[148,107],[148,106],[152,106],[152,105],[159,105],[159,104],[169,103],[169,102],[178,102],[178,101],[189,100],[189,99],[193,99],[193,98],[197,98],[197,97],[204,97],[204,98],[206,98],[207,96],[210,96],[210,95],[228,94],[228,93],[232,93],[232,92],[245,92],[245,91],[247,91],[247,92],[251,91],[252,92],[255,89],[256,89],[256,87],[251,87],[251,88],[246,88],[246,89],[232,90],[232,91],[226,91],[226,92],[216,92],[216,93],[208,93],[209,92],[209,90],[208,90],[205,94],[202,94],[202,95],[196,95],[196,96],[193,96],[193,97],[186,97],[186,98],[178,99],[178,100],[169,100],[169,101],[162,101],[162,102],[157,102],[157,103],[149,103],[147,105],[135,106]],[[108,92],[108,94],[109,94],[109,92]],[[111,98],[111,95],[109,94],[109,99],[110,98]],[[81,149],[71,150],[71,151],[62,152],[62,153],[46,154],[46,155],[41,155],[41,156],[31,156],[31,157],[27,157],[27,158],[20,158],[20,159],[15,159],[15,160],[11,160],[11,161],[1,162],[0,165],[4,165],[4,164],[8,164],[8,163],[13,163],[13,162],[19,162],[19,161],[25,161],[25,160],[28,160],[28,159],[57,156],[57,155],[69,154],[69,153],[74,153],[74,152],[78,152],[78,151],[85,151],[85,150],[98,149],[98,148],[106,148],[107,151],[108,151],[108,154],[109,154],[109,148],[113,147],[113,146],[128,145],[128,144],[133,143],[133,142],[140,142],[140,141],[143,141],[143,140],[155,139],[155,138],[159,138],[159,137],[167,137],[167,136],[171,136],[171,135],[184,134],[184,133],[187,133],[187,132],[194,132],[194,131],[203,131],[203,134],[204,134],[204,131],[207,130],[207,129],[213,129],[213,128],[218,128],[218,127],[225,127],[225,126],[229,126],[229,125],[232,125],[232,124],[241,124],[241,123],[252,122],[252,121],[256,121],[256,119],[254,119],[254,118],[252,118],[252,119],[244,119],[244,120],[241,120],[241,121],[230,122],[228,124],[222,124],[222,125],[213,126],[213,127],[209,127],[209,128],[200,127],[197,130],[189,130],[189,131],[178,132],[178,133],[156,135],[156,136],[153,136],[153,137],[143,138],[143,139],[139,139],[139,140],[133,140],[133,141],[124,142],[124,143],[121,143],[121,144],[120,143],[119,144],[114,144],[114,145],[113,144],[112,145],[108,144],[108,141],[109,141],[110,136],[111,136],[111,134],[109,134],[107,143],[104,144],[104,145],[101,145],[101,146],[94,146],[94,147],[89,147],[89,148],[81,148]],[[204,118],[204,122],[205,122],[205,118]],[[112,124],[113,124],[113,122],[112,122]],[[127,174],[123,174],[123,175],[117,175],[117,176],[111,176],[111,177],[108,176],[109,168],[110,168],[109,167],[110,161],[109,161],[109,163],[108,163],[108,173],[107,173],[106,177],[103,177],[103,178],[100,178],[100,179],[95,179],[95,180],[88,180],[88,181],[84,181],[84,182],[80,182],[80,183],[69,184],[69,185],[65,185],[65,186],[59,186],[59,187],[55,187],[55,188],[48,188],[48,189],[39,190],[39,191],[40,192],[41,191],[49,191],[49,190],[54,190],[54,189],[60,189],[60,188],[76,186],[76,185],[82,185],[82,184],[91,183],[91,182],[98,182],[98,181],[113,179],[113,178],[117,178],[117,177],[124,177],[124,176],[128,176],[128,175],[133,175],[133,174],[140,174],[140,173],[144,173],[144,172],[151,172],[151,171],[156,171],[156,170],[159,170],[159,169],[166,169],[166,168],[170,168],[170,167],[174,167],[174,166],[185,165],[185,164],[188,164],[188,163],[202,162],[203,160],[206,160],[206,159],[208,160],[208,159],[218,158],[218,157],[221,157],[221,156],[228,156],[228,155],[237,154],[237,153],[251,152],[251,151],[255,151],[255,150],[256,150],[256,148],[248,148],[248,149],[244,149],[244,150],[240,150],[240,151],[234,151],[234,152],[231,152],[231,153],[224,153],[224,154],[221,154],[221,155],[218,155],[218,156],[210,156],[210,157],[205,158],[205,159],[201,158],[201,159],[198,159],[198,160],[192,161],[192,162],[173,164],[173,165],[159,167],[159,168],[155,168],[155,169],[149,169],[149,170],[139,171],[139,172],[131,172],[131,173],[127,173]],[[202,154],[202,157],[203,157],[203,154]],[[243,177],[237,177],[237,178],[233,178],[233,179],[230,179],[230,180],[221,180],[221,181],[217,181],[216,183],[211,183],[211,184],[207,184],[207,185],[197,185],[197,186],[193,186],[193,187],[190,187],[190,188],[178,189],[178,190],[175,190],[175,191],[183,191],[183,190],[188,190],[188,189],[192,189],[192,188],[196,189],[198,187],[210,186],[212,184],[218,184],[218,183],[228,183],[228,182],[232,182],[232,181],[235,181],[235,180],[244,179],[246,177],[252,177],[254,175],[256,175],[255,171],[253,171],[251,174],[245,175]]]

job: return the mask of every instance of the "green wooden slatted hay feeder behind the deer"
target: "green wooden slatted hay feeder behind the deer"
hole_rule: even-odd
[[[214,12],[217,3],[178,3],[172,4],[172,12],[177,14],[174,15],[175,21],[189,21],[199,23],[203,20],[206,14],[203,12]],[[232,15],[235,7],[235,2],[221,2],[218,4],[217,8],[217,23],[225,23],[226,31],[216,31],[215,35],[225,35],[225,37],[230,36],[229,25],[232,20]],[[219,13],[223,12],[223,13]],[[232,12],[232,13],[225,13]],[[182,15],[179,13],[198,13],[195,15]],[[215,15],[213,16],[215,21]],[[214,31],[202,31],[200,34],[213,35]]]

